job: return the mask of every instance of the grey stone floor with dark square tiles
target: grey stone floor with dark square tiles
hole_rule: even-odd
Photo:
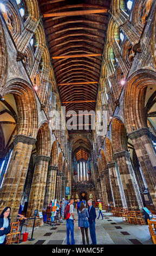
[[[98,215],[98,210],[96,210],[96,214]],[[76,210],[74,215],[76,219],[74,227],[75,244],[82,245],[81,231],[77,226]],[[31,233],[28,239],[30,237]],[[56,225],[56,227],[44,224],[34,230],[33,238],[35,240],[27,240],[22,242],[21,245],[66,245],[66,222]],[[125,223],[122,221],[122,217],[112,216],[109,212],[103,212],[103,220],[96,220],[96,240],[98,245],[153,245],[148,225]],[[90,233],[89,243],[92,243]]]

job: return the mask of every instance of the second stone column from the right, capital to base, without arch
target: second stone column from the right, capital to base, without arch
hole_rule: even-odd
[[[135,179],[134,170],[130,160],[130,154],[127,151],[115,153],[114,156],[118,162],[120,177],[126,203],[129,210],[142,210],[143,204],[139,193],[139,187]]]

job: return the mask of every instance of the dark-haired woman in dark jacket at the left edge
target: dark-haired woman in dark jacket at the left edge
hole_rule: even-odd
[[[5,207],[0,215],[0,245],[5,245],[6,235],[10,232],[10,207]]]

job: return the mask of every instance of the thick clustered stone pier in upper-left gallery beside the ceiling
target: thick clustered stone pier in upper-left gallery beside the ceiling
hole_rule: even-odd
[[[17,46],[18,52],[21,53],[21,57],[22,54],[25,52],[30,42],[30,39],[32,38],[32,35],[34,35],[39,22],[40,21],[37,21],[35,17],[29,16],[28,19],[24,22],[24,29],[22,33],[20,35],[17,35],[17,37],[15,38],[15,44]],[[21,59],[23,59],[23,57]]]

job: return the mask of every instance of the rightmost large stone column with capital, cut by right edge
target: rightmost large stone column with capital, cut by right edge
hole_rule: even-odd
[[[132,140],[142,173],[144,174],[148,191],[156,209],[156,157],[152,143],[152,133],[147,128],[141,128],[128,134]]]

